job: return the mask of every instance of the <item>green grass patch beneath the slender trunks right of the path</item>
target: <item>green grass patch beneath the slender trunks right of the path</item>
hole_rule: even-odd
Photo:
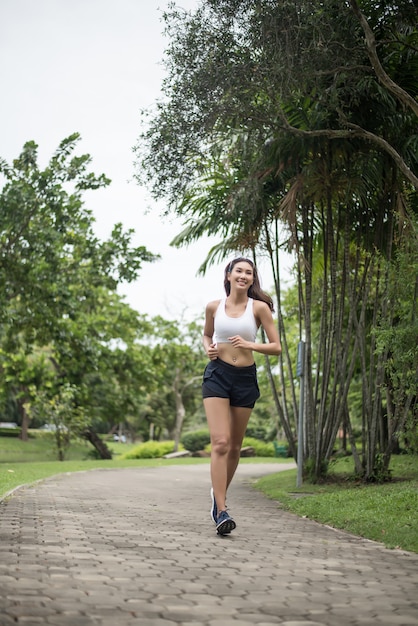
[[[296,470],[270,474],[255,486],[280,508],[321,524],[418,552],[418,456],[394,456],[394,480],[364,485],[349,479],[350,458],[337,461],[333,481],[296,487]]]

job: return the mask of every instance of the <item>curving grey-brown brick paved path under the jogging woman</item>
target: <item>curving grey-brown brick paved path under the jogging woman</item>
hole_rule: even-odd
[[[278,509],[241,464],[215,534],[207,465],[59,475],[0,503],[0,624],[418,625],[418,554]]]

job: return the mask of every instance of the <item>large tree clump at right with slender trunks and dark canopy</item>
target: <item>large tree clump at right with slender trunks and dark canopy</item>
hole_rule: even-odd
[[[297,415],[277,254],[287,224],[307,343],[305,458],[318,477],[341,424],[350,427],[360,371],[356,464],[372,480],[396,437],[382,434],[388,353],[376,352],[372,330],[380,312],[385,323],[393,314],[385,264],[402,237],[416,237],[414,4],[211,0],[193,14],[172,9],[166,24],[165,99],[138,143],[138,177],[184,218],[177,245],[220,236],[203,270],[235,250],[268,254],[291,389],[292,411],[277,405],[285,426]]]

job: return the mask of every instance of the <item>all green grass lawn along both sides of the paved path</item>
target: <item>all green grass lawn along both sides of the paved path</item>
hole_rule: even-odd
[[[71,446],[68,460],[54,460],[51,442],[45,438],[0,437],[0,499],[19,485],[66,472],[99,468],[158,467],[209,463],[207,458],[123,460],[129,444],[108,444],[114,457],[110,461],[88,458],[92,449],[80,442]],[[289,459],[243,458],[241,463],[287,463]],[[306,516],[322,524],[418,553],[418,456],[392,457],[393,481],[382,485],[363,485],[352,480],[350,457],[338,460],[332,480],[325,484],[304,483],[296,487],[296,470],[264,476],[254,487],[276,500],[278,507]]]

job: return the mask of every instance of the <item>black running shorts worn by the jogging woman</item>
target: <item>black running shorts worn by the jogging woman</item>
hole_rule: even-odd
[[[221,359],[209,361],[203,374],[203,398],[229,398],[231,406],[252,409],[260,397],[255,363],[235,367]]]

